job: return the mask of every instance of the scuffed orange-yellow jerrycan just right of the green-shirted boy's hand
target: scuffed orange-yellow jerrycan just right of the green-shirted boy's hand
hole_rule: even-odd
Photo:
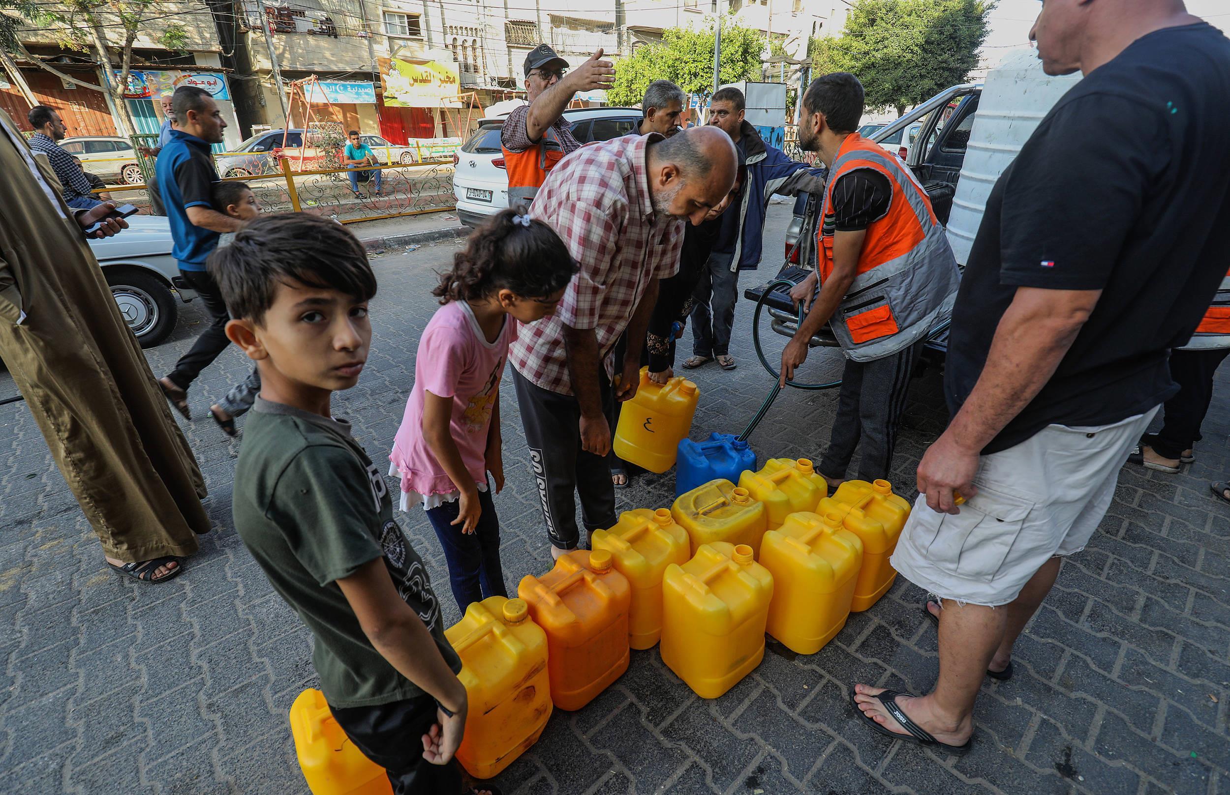
[[[546,633],[524,601],[492,596],[471,603],[444,636],[461,657],[458,678],[470,700],[458,761],[490,779],[534,745],[551,716]]]

